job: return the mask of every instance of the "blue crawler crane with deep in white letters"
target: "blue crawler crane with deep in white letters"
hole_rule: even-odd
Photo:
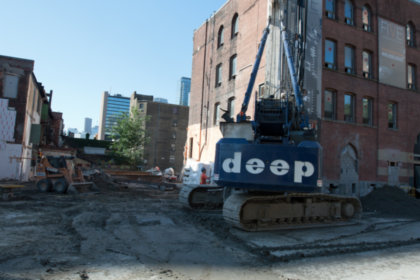
[[[281,6],[279,2],[273,1]],[[307,1],[298,1],[300,33],[293,34],[293,40],[283,19],[287,10],[281,13],[282,63],[288,72],[282,92],[256,98],[254,120],[249,120],[246,112],[270,32],[269,19],[241,111],[236,120],[224,114],[226,122],[220,123],[223,138],[216,145],[214,179],[224,188],[224,219],[244,230],[340,224],[361,214],[356,197],[321,192],[322,148],[315,141],[301,93],[306,5]]]

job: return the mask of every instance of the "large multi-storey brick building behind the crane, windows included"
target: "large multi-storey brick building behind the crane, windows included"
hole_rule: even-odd
[[[273,1],[227,1],[194,32],[190,158],[213,161],[220,109],[239,112]],[[312,21],[321,24],[319,32],[313,32],[316,24],[308,27],[313,48],[307,59],[316,67],[305,90],[312,91],[310,115],[323,146],[324,185],[346,194],[360,194],[369,185],[420,187],[420,4],[309,3],[310,12],[319,15]],[[259,94],[272,78],[265,58],[275,47],[268,41],[254,87]],[[253,112],[253,102],[248,111]]]

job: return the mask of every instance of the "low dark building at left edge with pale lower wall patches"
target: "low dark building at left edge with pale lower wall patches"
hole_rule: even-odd
[[[28,180],[38,146],[50,144],[50,101],[33,68],[33,60],[0,56],[0,179]]]

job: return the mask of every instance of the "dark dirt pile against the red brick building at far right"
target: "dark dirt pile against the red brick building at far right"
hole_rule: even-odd
[[[361,198],[364,212],[377,212],[390,217],[420,219],[420,199],[397,187],[385,186]]]

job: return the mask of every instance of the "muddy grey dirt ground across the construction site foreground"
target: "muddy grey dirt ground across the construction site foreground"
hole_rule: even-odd
[[[185,209],[177,189],[133,182],[99,186],[96,193],[58,195],[27,184],[14,198],[0,200],[0,279],[420,275],[418,200],[396,192],[393,197],[410,202],[392,204],[388,197],[381,203],[384,192],[394,190],[364,199],[362,219],[347,226],[248,233],[225,224],[220,210]],[[398,209],[383,213],[387,206]]]

